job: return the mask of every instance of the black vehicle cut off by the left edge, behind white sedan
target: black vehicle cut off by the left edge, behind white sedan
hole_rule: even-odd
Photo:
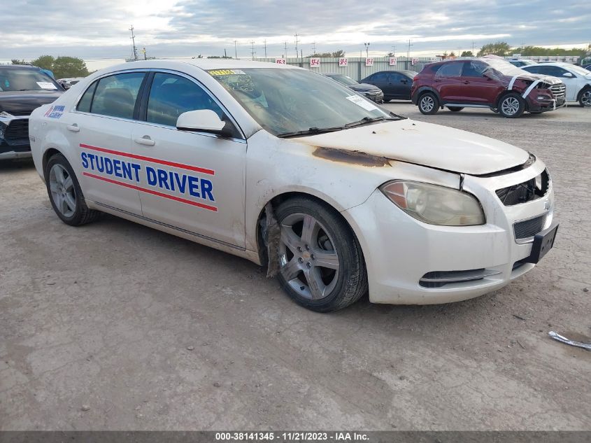
[[[31,156],[29,115],[63,92],[36,66],[0,65],[0,160]]]

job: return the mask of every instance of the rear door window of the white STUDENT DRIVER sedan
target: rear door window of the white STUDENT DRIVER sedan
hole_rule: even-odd
[[[144,76],[143,72],[128,72],[101,78],[94,91],[89,112],[111,117],[134,118],[136,99]]]

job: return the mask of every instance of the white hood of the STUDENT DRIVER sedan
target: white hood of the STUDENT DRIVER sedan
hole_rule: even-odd
[[[420,164],[462,174],[483,175],[527,162],[529,154],[508,143],[471,132],[413,120],[306,136],[318,148]]]

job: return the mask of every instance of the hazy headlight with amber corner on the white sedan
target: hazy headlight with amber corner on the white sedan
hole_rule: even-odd
[[[430,225],[484,225],[480,202],[467,192],[416,181],[391,181],[380,190],[409,216]]]

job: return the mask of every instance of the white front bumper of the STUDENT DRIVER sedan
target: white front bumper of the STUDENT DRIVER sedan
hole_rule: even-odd
[[[518,244],[513,224],[542,214],[546,214],[543,229],[553,223],[551,185],[544,197],[515,206],[504,206],[494,191],[527,181],[543,169],[543,163],[537,161],[514,174],[466,176],[464,190],[482,203],[485,225],[427,225],[401,211],[380,190],[364,204],[345,211],[366,260],[369,300],[390,304],[457,302],[502,288],[532,269],[534,265],[522,262],[532,253],[532,242]],[[475,272],[482,278],[429,284],[433,276],[465,277]]]

